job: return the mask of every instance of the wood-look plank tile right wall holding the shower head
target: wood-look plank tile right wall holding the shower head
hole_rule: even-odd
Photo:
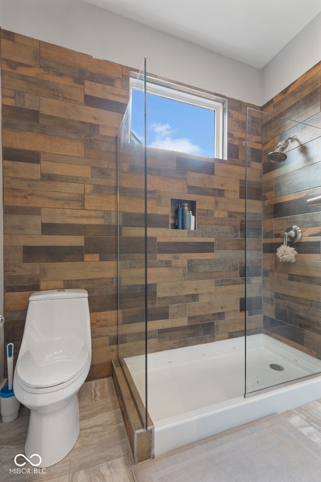
[[[263,141],[264,329],[321,358],[321,207],[306,204],[321,194],[321,62],[262,110],[296,121],[274,118]],[[279,140],[294,134],[298,142],[290,145],[285,162],[266,161],[265,154]],[[293,246],[296,262],[279,262],[276,249],[285,229],[294,224],[302,229],[301,241]]]

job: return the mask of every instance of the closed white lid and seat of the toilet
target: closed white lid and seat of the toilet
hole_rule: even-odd
[[[71,382],[85,368],[88,356],[80,338],[38,341],[17,363],[17,376],[24,386],[47,391]]]

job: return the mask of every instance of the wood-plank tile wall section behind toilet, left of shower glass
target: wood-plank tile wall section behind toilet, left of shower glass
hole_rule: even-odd
[[[92,367],[117,356],[116,133],[129,69],[1,32],[6,342],[20,347],[29,295],[89,293]]]

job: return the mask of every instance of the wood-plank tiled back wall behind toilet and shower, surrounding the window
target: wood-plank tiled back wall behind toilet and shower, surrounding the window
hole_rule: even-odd
[[[84,288],[93,341],[89,378],[110,375],[117,357],[116,134],[129,68],[4,30],[1,59],[6,342],[19,350],[32,292]],[[150,350],[243,335],[245,114],[245,103],[228,99],[226,161],[148,153]],[[141,163],[129,148],[120,195],[124,355],[137,354],[143,343],[137,237],[144,199]],[[260,140],[250,149],[254,333],[261,330]],[[171,229],[170,198],[182,197],[197,201],[194,232]]]

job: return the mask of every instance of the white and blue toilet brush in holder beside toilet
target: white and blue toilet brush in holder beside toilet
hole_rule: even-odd
[[[12,383],[14,375],[14,344],[7,345],[8,385],[0,390],[0,412],[3,422],[12,422],[18,417],[20,402],[15,397]]]

